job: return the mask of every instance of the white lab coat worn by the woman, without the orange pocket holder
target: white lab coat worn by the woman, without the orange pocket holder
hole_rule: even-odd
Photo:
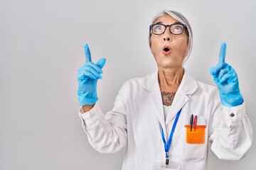
[[[178,164],[180,169],[206,169],[209,142],[217,157],[228,160],[241,159],[252,145],[245,103],[233,108],[222,106],[218,89],[196,81],[186,70],[166,120],[158,70],[127,81],[119,90],[114,108],[106,115],[96,103],[89,113],[81,114],[80,109],[80,117],[90,144],[98,152],[113,153],[127,147],[122,170],[149,170],[154,164],[164,164],[160,127],[168,138],[180,108],[183,109],[169,150],[171,164]],[[186,143],[184,127],[191,114],[198,115],[198,122],[206,125],[204,144]]]

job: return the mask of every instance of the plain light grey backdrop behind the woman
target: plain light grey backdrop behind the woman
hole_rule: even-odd
[[[83,45],[90,45],[93,61],[107,58],[98,82],[106,113],[124,81],[156,68],[149,24],[163,9],[191,23],[193,51],[184,67],[199,81],[214,85],[209,68],[227,42],[226,62],[238,72],[255,128],[255,8],[255,0],[0,0],[0,169],[121,169],[125,149],[100,154],[81,128],[76,94]],[[255,142],[240,162],[209,150],[208,170],[255,169],[255,157]]]

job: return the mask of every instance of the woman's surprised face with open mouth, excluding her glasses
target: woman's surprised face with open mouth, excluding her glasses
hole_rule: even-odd
[[[177,22],[180,23],[169,15],[160,16],[154,21],[154,23],[162,23],[164,25],[171,25]],[[163,34],[154,35],[152,33],[150,39],[150,49],[159,68],[182,67],[188,48],[188,33],[186,30],[180,35],[174,35],[170,33],[169,27],[166,27],[166,31]]]

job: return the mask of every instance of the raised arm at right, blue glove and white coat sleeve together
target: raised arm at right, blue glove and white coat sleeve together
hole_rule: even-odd
[[[211,149],[220,159],[238,161],[252,145],[252,125],[245,113],[245,103],[240,94],[238,75],[225,62],[226,44],[220,47],[219,62],[210,69],[218,87],[215,98],[220,94],[220,103],[211,118]]]

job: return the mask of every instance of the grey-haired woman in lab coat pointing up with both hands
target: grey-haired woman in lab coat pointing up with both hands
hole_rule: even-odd
[[[101,153],[127,147],[125,170],[206,169],[208,141],[220,159],[241,159],[252,144],[252,127],[237,74],[225,63],[225,43],[210,69],[218,89],[183,69],[192,31],[181,13],[159,13],[150,26],[149,45],[156,71],[125,82],[106,115],[96,103],[106,60],[92,63],[85,45],[86,64],[78,72],[79,113],[92,147]]]

